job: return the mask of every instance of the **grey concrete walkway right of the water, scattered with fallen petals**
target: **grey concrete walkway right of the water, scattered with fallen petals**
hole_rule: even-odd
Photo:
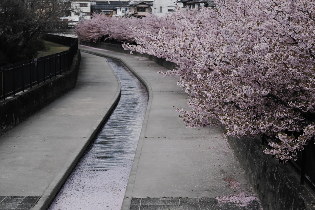
[[[173,106],[189,109],[178,78],[163,78],[156,72],[166,69],[144,57],[79,48],[122,60],[149,92],[122,210],[261,209],[221,129],[186,128],[178,117]]]

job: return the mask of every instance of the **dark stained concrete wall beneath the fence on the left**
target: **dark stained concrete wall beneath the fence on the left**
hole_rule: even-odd
[[[0,102],[0,135],[74,88],[80,61],[81,53],[78,50],[70,71],[2,100]]]

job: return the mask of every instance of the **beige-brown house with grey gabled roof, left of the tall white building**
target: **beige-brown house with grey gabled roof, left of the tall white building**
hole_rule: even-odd
[[[152,12],[152,1],[131,1],[128,4],[128,15],[135,17],[144,17]]]

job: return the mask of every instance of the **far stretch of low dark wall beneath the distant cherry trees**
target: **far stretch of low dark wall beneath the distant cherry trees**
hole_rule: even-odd
[[[104,43],[104,42],[84,42],[84,41],[81,41],[79,44],[82,44],[82,45],[85,45],[85,46],[90,46],[90,47],[95,47],[95,48],[101,48],[101,49],[107,49],[107,50],[111,50],[111,51],[115,51],[115,52],[118,52],[118,53],[126,53],[126,54],[129,54],[130,53],[130,50],[125,50],[123,48],[123,46],[121,46],[121,44],[115,44],[115,43]],[[148,58],[154,62],[156,62],[157,64],[163,66],[164,68],[167,68],[167,69],[175,69],[176,67],[176,64],[173,63],[173,62],[169,62],[169,61],[166,61],[165,59],[163,58],[157,58],[153,55],[149,55],[149,54],[141,54],[141,53],[138,53],[138,52],[133,52],[134,55],[138,55],[138,56],[141,56],[141,57],[145,57],[145,58]]]

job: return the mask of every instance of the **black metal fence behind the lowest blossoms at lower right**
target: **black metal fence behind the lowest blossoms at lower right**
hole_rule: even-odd
[[[298,138],[302,135],[301,132],[289,132],[285,131],[288,135],[294,135]],[[262,144],[266,141],[266,137],[262,137]],[[280,161],[281,162],[281,161]],[[300,184],[303,185],[306,181],[312,190],[315,191],[315,144],[314,139],[311,139],[307,145],[304,146],[304,150],[297,152],[297,160],[290,160],[289,164],[300,175]]]

